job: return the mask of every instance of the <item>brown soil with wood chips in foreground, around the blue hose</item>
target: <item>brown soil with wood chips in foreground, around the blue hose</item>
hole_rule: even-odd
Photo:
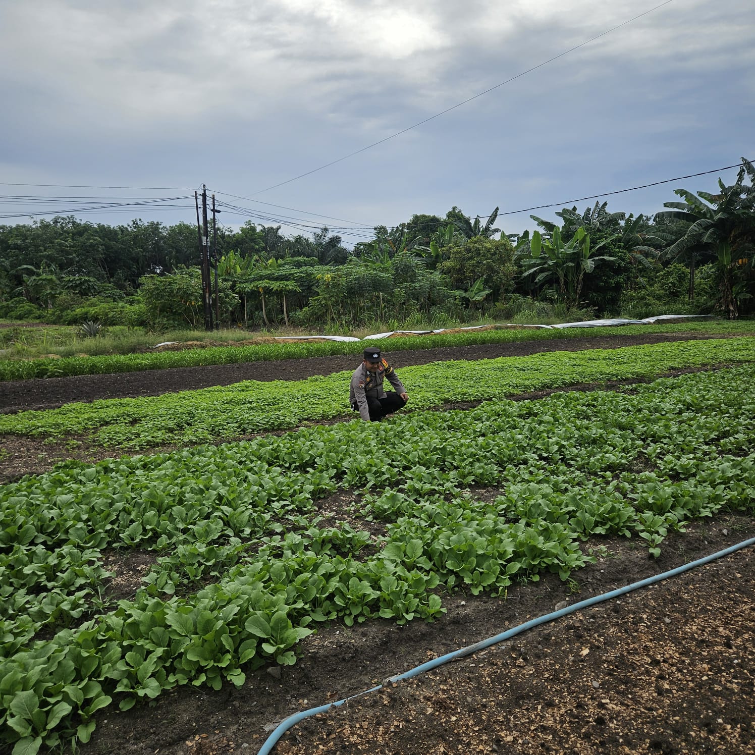
[[[267,729],[370,689],[388,676],[569,604],[755,536],[755,520],[695,522],[658,560],[624,538],[593,538],[597,562],[507,599],[457,593],[448,613],[403,627],[331,624],[293,667],[268,666],[241,689],[182,688],[153,706],[103,711],[82,755],[254,755]],[[479,655],[357,698],[292,729],[279,755],[587,755],[755,753],[755,559],[712,565],[544,624]]]

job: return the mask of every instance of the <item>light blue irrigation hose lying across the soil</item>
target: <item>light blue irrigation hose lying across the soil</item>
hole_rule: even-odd
[[[702,566],[709,563],[710,561],[720,559],[723,556],[729,556],[730,553],[735,553],[735,551],[749,547],[750,545],[755,545],[755,538],[750,538],[749,540],[742,541],[741,543],[732,545],[725,550],[720,550],[718,551],[718,553],[712,553],[710,556],[704,556],[704,558],[698,559],[697,561],[691,561],[682,566],[677,566],[676,569],[671,569],[669,572],[664,572],[663,574],[655,575],[655,577],[649,577],[647,579],[640,580],[639,582],[628,584],[627,587],[619,587],[618,590],[611,590],[610,593],[596,595],[592,598],[587,598],[587,600],[581,600],[578,603],[574,603],[572,606],[566,606],[564,609],[559,609],[558,611],[553,611],[552,613],[545,614],[544,616],[539,616],[538,618],[532,619],[532,621],[527,621],[525,624],[519,624],[518,627],[513,627],[513,629],[508,629],[505,632],[501,632],[500,634],[496,634],[495,636],[488,637],[488,639],[483,639],[482,642],[474,643],[474,645],[469,645],[466,648],[461,648],[459,650],[446,653],[445,655],[441,655],[439,658],[434,658],[433,661],[427,661],[427,663],[421,664],[421,666],[412,668],[408,671],[405,671],[404,673],[398,673],[396,674],[396,676],[389,676],[387,680],[385,680],[385,683],[394,683],[400,682],[405,679],[411,679],[412,676],[417,676],[418,674],[424,673],[425,671],[430,671],[433,668],[437,668],[439,666],[442,666],[443,664],[448,663],[449,661],[457,661],[459,658],[464,658],[465,655],[472,655],[473,653],[484,650],[485,648],[489,648],[492,645],[502,643],[504,639],[510,639],[517,634],[521,634],[522,632],[534,629],[535,627],[540,626],[540,624],[546,624],[548,621],[555,621],[557,618],[567,616],[570,613],[580,611],[581,609],[586,609],[588,606],[594,606],[596,603],[600,603],[605,600],[611,600],[612,598],[618,598],[618,596],[630,593],[633,590],[639,590],[640,587],[648,587],[651,584],[655,584],[656,582],[660,582],[661,580],[667,579],[669,577],[675,577],[676,575],[683,574],[684,572],[689,572],[690,569],[695,569],[698,566]],[[350,697],[344,698],[343,700],[337,700],[326,705],[310,708],[309,710],[301,710],[299,713],[294,713],[292,716],[288,716],[288,718],[284,719],[275,729],[275,731],[273,731],[265,740],[262,747],[260,747],[257,755],[270,755],[270,752],[273,751],[273,747],[278,744],[278,740],[285,734],[285,732],[287,732],[288,729],[291,729],[291,726],[295,726],[305,718],[316,716],[317,713],[325,713],[326,710],[330,710],[330,708],[334,707],[335,705],[343,705],[347,700],[353,700],[354,698],[359,698],[362,695],[368,695],[370,692],[377,692],[378,689],[383,689],[383,686],[383,684],[378,684],[376,687],[365,689],[364,692],[357,692],[356,695],[351,695]]]

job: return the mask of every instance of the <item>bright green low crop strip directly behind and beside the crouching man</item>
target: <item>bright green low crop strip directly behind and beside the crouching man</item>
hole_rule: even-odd
[[[666,371],[755,360],[755,338],[676,341],[614,350],[548,352],[402,368],[410,407],[501,399],[596,381],[646,379]],[[57,438],[87,434],[106,447],[149,448],[230,439],[350,414],[350,372],[304,381],[244,381],[226,387],[72,403],[0,417],[0,433]]]

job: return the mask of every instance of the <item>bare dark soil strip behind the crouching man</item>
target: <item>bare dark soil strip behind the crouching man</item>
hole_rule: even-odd
[[[740,336],[734,334],[732,337]],[[390,352],[390,341],[381,347],[396,368],[427,365],[451,359],[495,359],[499,356],[529,356],[547,351],[581,351],[584,349],[618,349],[642,344],[669,341],[692,341],[720,338],[720,334],[655,333],[611,337],[549,338],[545,341],[519,341],[513,344],[482,344],[453,348]],[[726,337],[726,336],[723,336]],[[353,370],[359,365],[358,355],[316,356],[310,359],[281,359],[273,362],[242,362],[235,365],[171,368],[119,372],[75,377],[48,377],[27,381],[0,382],[0,413],[27,409],[51,409],[72,401],[122,399],[138,396],[160,396],[179,390],[195,390],[217,385],[230,385],[245,380],[304,380],[313,375],[327,375]]]

